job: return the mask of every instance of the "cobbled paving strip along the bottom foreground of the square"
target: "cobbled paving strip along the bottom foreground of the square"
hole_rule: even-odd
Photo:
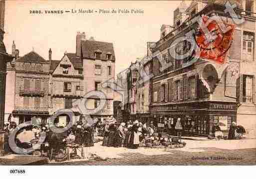
[[[119,154],[121,158],[106,161],[90,160],[48,165],[256,165],[256,148],[237,150],[197,148],[196,150],[197,152],[186,152],[170,149],[163,155],[122,153]]]

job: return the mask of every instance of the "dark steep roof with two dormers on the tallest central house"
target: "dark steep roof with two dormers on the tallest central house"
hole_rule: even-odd
[[[106,54],[112,54],[111,60],[115,61],[115,52],[113,43],[101,42],[95,40],[81,40],[82,58],[95,59],[94,53],[100,50],[102,52],[102,60],[106,59]]]

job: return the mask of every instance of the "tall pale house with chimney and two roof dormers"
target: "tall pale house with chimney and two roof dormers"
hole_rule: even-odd
[[[76,55],[82,60],[84,77],[84,95],[91,91],[101,91],[105,94],[106,105],[98,112],[91,112],[93,119],[104,120],[113,115],[114,90],[109,80],[115,77],[115,52],[113,43],[96,41],[94,38],[87,40],[85,34],[78,33],[76,37]],[[91,96],[86,98],[86,108],[95,109],[100,104],[100,98]]]

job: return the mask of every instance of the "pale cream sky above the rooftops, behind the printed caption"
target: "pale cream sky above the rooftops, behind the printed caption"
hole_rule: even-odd
[[[162,24],[173,24],[180,1],[83,1],[6,0],[4,44],[11,53],[12,40],[19,56],[32,51],[48,60],[60,60],[64,52],[75,53],[76,33],[85,32],[97,41],[112,42],[116,74],[146,54],[146,42],[160,39]],[[94,13],[32,14],[30,10],[93,9]],[[141,9],[144,13],[99,13],[99,9]]]

